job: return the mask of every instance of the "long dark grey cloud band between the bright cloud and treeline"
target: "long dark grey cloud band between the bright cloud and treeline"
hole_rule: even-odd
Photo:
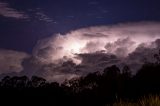
[[[116,56],[102,52],[77,54],[82,59],[81,64],[75,64],[72,60],[61,61],[59,64],[44,64],[35,57],[23,61],[24,69],[21,75],[37,75],[49,81],[63,82],[65,79],[86,75],[89,72],[103,71],[107,66],[118,63]]]

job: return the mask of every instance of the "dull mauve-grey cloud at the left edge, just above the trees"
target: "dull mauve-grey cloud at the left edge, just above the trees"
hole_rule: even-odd
[[[23,67],[21,65],[23,59],[29,55],[24,52],[0,49],[0,74],[10,72],[20,72]]]

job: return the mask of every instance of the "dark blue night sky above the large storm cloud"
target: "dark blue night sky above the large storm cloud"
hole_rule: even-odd
[[[31,53],[39,39],[54,33],[160,21],[159,5],[159,0],[0,0],[0,48]]]

